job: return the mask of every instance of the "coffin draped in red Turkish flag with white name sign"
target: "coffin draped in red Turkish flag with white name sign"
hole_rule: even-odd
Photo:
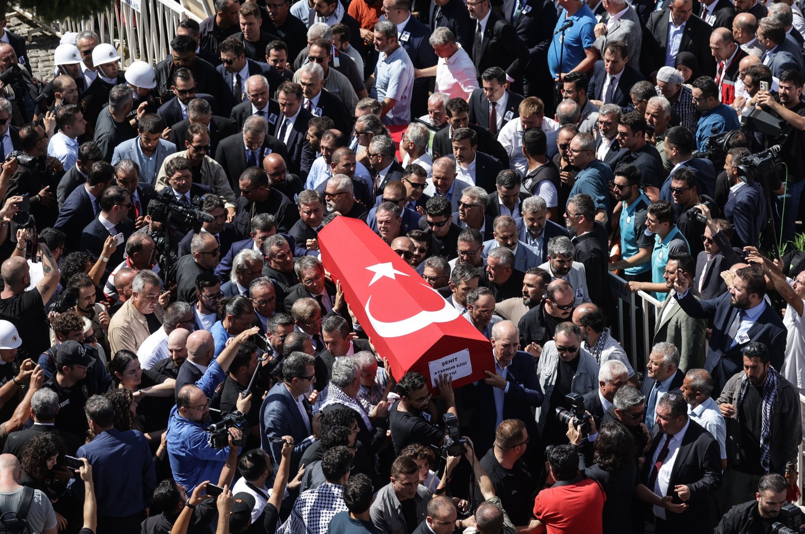
[[[433,387],[436,375],[449,373],[459,387],[494,372],[489,340],[365,222],[336,217],[320,231],[319,246],[324,268],[397,379],[416,371]]]

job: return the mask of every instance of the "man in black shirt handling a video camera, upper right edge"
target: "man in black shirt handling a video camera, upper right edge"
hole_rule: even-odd
[[[805,189],[805,103],[801,101],[802,93],[803,75],[792,69],[782,72],[776,96],[769,91],[755,95],[755,101],[763,110],[784,121],[779,135],[763,136],[765,147],[780,145],[780,159],[787,168],[787,176],[783,176],[783,180],[788,180],[786,193],[777,197],[784,242],[794,239],[799,201]]]

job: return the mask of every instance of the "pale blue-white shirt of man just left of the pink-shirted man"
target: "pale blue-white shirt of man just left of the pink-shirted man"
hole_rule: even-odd
[[[410,123],[414,64],[405,48],[397,48],[390,56],[386,56],[386,52],[380,53],[378,64],[374,67],[374,80],[369,96],[381,103],[386,98],[395,101],[394,107],[383,116],[383,123],[392,126]]]

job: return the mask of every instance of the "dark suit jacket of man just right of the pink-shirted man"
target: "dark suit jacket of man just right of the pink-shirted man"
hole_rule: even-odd
[[[477,22],[470,26],[472,31],[476,27]],[[531,60],[526,43],[519,38],[514,26],[495,10],[489,11],[489,19],[486,20],[481,56],[475,57],[474,47],[467,52],[473,57],[479,84],[481,74],[489,67],[500,67],[514,80],[519,80]]]

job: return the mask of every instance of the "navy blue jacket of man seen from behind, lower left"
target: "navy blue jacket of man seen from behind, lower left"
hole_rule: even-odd
[[[151,506],[156,472],[151,447],[139,430],[110,428],[76,455],[93,466],[99,517],[126,517]]]

